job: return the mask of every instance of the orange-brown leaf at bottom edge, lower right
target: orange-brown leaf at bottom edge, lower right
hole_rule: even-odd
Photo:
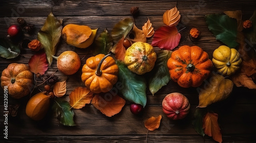
[[[218,114],[207,113],[203,119],[204,133],[218,142],[222,142],[221,129],[218,124]]]

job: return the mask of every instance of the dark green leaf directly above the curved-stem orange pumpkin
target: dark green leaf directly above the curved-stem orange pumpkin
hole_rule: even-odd
[[[104,54],[108,55],[113,47],[113,39],[110,33],[105,29],[100,33],[99,37],[95,40],[93,55]]]

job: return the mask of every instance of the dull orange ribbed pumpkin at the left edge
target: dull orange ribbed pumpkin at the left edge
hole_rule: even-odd
[[[2,72],[1,86],[8,87],[8,93],[12,98],[20,99],[30,92],[33,79],[34,76],[27,65],[11,63]]]

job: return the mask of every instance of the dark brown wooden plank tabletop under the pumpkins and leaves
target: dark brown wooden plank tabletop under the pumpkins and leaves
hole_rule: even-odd
[[[111,32],[114,25],[121,19],[132,17],[131,7],[139,7],[139,16],[136,17],[136,26],[141,28],[150,18],[153,27],[163,26],[162,15],[165,10],[175,7],[177,1],[29,1],[11,0],[0,2],[0,35],[5,37],[9,25],[16,23],[17,17],[25,18],[28,23],[35,25],[33,34],[26,34],[28,39],[35,39],[37,32],[44,25],[50,12],[58,19],[63,19],[63,26],[68,23],[88,25],[92,29],[99,28],[98,34],[105,28]],[[195,1],[183,0],[178,2],[178,10],[182,16],[181,22],[186,29],[181,31],[181,45],[198,45],[212,58],[212,52],[222,43],[215,39],[205,23],[206,14],[222,13],[226,10],[242,10],[243,19],[248,19],[256,6],[251,1]],[[189,30],[196,27],[201,31],[201,39],[197,42],[189,40]],[[148,40],[151,43],[152,38]],[[62,52],[72,50],[82,59],[82,65],[91,55],[88,50],[78,49],[66,44],[61,39],[56,56]],[[8,64],[17,62],[28,64],[35,52],[22,49],[14,59],[0,58],[0,72]],[[57,69],[53,61],[46,74],[52,74]],[[84,86],[80,80],[81,71],[72,76],[64,76],[60,72],[56,75],[60,80],[67,79],[67,95],[78,86]],[[3,89],[1,88],[1,113],[3,113]],[[39,92],[38,90],[35,92]],[[169,120],[162,111],[161,102],[168,93],[181,92],[190,101],[191,110],[188,116],[181,121]],[[223,142],[255,142],[256,135],[256,91],[244,87],[234,87],[231,96],[218,103],[219,124],[223,135]],[[198,93],[195,88],[181,88],[177,83],[170,81],[160,89],[155,96],[147,90],[147,105],[142,115],[130,112],[130,102],[127,102],[122,111],[113,117],[106,117],[92,105],[87,105],[75,112],[75,127],[66,127],[53,117],[51,111],[41,122],[34,122],[25,113],[28,98],[19,100],[21,103],[18,115],[8,118],[8,139],[3,138],[3,115],[1,115],[0,142],[145,142],[147,129],[144,120],[151,116],[163,116],[160,128],[148,133],[148,142],[216,142],[207,135],[203,138],[194,130],[191,121],[198,105]],[[9,100],[9,104],[17,101]]]

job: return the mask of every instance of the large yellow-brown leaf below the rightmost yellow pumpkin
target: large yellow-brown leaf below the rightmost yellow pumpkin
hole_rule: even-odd
[[[207,85],[207,86],[206,86]],[[233,89],[233,82],[225,77],[212,74],[208,80],[201,85],[199,91],[199,105],[204,108],[212,103],[226,99]]]

